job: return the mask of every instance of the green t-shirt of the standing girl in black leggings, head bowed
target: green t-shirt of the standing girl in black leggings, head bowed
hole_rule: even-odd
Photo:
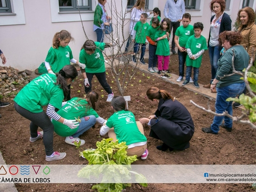
[[[79,54],[79,62],[85,64],[86,73],[103,73],[106,71],[102,54],[105,49],[105,43],[95,42],[95,45],[97,48],[93,54],[87,54],[84,49]]]

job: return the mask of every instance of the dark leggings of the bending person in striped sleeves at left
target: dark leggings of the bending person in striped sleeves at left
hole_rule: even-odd
[[[21,116],[31,121],[30,122],[31,138],[37,137],[38,126],[41,127],[41,129],[44,131],[43,142],[44,142],[45,153],[47,156],[52,155],[54,152],[53,151],[54,126],[50,121],[50,118],[44,113],[44,111],[41,113],[32,113],[29,110],[23,107],[20,107],[15,101],[14,101],[14,108]]]

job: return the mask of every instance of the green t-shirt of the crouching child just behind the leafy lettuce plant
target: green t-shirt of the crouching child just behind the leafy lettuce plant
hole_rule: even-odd
[[[145,142],[147,138],[143,135],[136,124],[135,117],[131,111],[117,111],[111,115],[106,123],[108,127],[114,127],[118,142],[126,142],[131,145],[137,142]]]

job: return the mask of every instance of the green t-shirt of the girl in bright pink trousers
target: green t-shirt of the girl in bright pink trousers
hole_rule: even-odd
[[[166,34],[166,30],[165,31],[164,30],[156,31],[156,35],[155,35],[154,41],[158,37],[162,37],[165,34]],[[171,34],[169,35],[169,37],[170,36],[171,36]],[[165,39],[161,39],[161,40],[157,41],[156,55],[162,55],[162,56],[170,55],[170,46],[169,46],[169,41],[168,41],[167,37]]]

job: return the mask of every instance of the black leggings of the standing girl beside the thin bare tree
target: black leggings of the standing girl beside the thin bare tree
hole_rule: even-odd
[[[105,89],[105,91],[108,94],[111,94],[112,90],[111,90],[109,84],[107,83],[106,72],[103,72],[103,73],[87,73],[86,72],[86,76],[88,78],[90,86],[89,87],[84,87],[85,93],[87,94],[87,93],[92,91],[92,77],[93,77],[93,75],[95,75],[97,77],[97,79],[99,80],[103,89]]]

